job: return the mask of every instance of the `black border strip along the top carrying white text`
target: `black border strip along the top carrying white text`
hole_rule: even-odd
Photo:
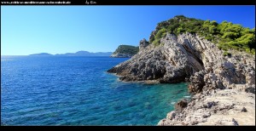
[[[1,0],[1,5],[255,5],[254,0]]]

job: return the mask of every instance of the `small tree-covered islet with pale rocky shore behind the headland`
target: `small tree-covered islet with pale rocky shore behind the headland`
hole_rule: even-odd
[[[111,54],[111,57],[132,57],[134,54],[137,54],[139,51],[138,47],[131,45],[119,45],[119,47]]]

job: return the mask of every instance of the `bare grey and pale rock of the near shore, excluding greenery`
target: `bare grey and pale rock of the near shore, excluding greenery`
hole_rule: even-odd
[[[167,33],[160,43],[142,40],[138,54],[108,70],[126,82],[189,82],[192,99],[177,102],[158,125],[255,125],[254,55],[230,50],[224,56],[189,33]]]

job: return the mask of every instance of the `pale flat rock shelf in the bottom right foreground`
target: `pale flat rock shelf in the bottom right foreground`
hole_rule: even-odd
[[[157,125],[255,125],[255,94],[237,88],[197,94],[183,111],[167,113]]]

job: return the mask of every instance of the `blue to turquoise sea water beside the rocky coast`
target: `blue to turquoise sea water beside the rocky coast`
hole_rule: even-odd
[[[124,83],[127,58],[1,56],[1,125],[156,125],[187,83]]]

